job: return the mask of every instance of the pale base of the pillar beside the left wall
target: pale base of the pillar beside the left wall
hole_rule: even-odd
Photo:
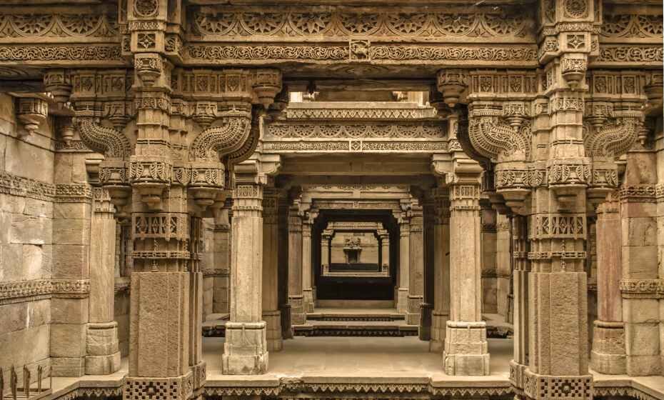
[[[118,323],[88,324],[86,334],[86,375],[108,375],[120,369]]]

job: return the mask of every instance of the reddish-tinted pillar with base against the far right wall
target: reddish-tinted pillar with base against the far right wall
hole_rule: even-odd
[[[625,326],[620,299],[620,204],[610,194],[597,208],[597,317],[590,364],[602,374],[625,374]]]

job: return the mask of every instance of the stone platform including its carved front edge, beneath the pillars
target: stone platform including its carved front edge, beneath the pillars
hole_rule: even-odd
[[[270,353],[266,374],[231,376],[221,374],[223,338],[203,339],[207,364],[206,396],[290,396],[341,398],[343,394],[430,399],[434,396],[511,398],[510,339],[488,339],[491,374],[449,376],[443,372],[441,354],[428,351],[416,337],[344,338],[296,337],[283,342],[283,350]],[[123,359],[120,371],[109,376],[54,378],[50,399],[78,396],[120,396],[128,369]],[[596,374],[595,396],[632,396],[641,400],[664,400],[661,376],[630,377]]]

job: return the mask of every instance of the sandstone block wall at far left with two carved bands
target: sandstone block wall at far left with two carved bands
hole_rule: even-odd
[[[19,138],[15,100],[0,94],[0,368],[49,365],[54,144],[50,124]],[[50,122],[50,121],[49,121]]]

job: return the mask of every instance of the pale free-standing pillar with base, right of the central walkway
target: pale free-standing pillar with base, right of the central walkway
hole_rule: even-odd
[[[489,354],[481,299],[481,167],[457,160],[450,201],[450,319],[443,366],[448,375],[488,375]]]

